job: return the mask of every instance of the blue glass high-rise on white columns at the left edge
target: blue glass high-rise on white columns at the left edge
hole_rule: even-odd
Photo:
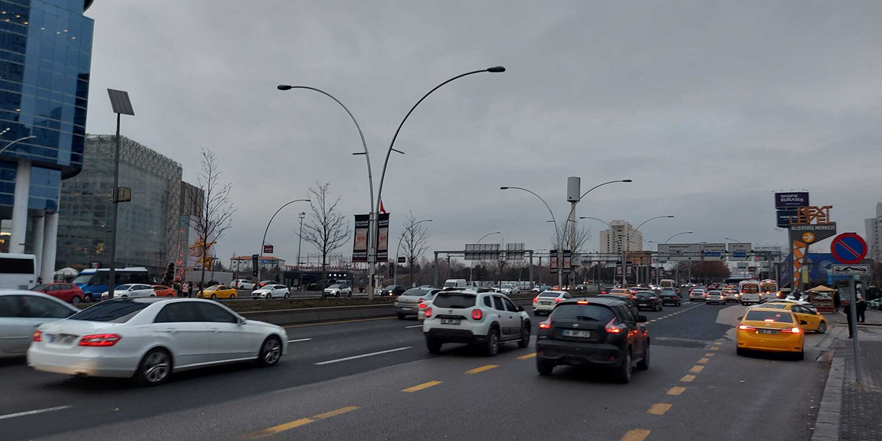
[[[0,3],[0,250],[36,255],[43,280],[56,269],[62,180],[83,163],[92,2]]]

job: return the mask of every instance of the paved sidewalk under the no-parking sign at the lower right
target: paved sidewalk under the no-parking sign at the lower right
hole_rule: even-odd
[[[868,322],[882,322],[882,313],[867,310]],[[844,322],[844,315],[839,314]],[[833,320],[826,316],[831,323]],[[833,325],[829,341],[834,349],[824,395],[818,408],[812,441],[882,439],[882,327],[859,326],[861,380],[855,382],[855,353],[848,329]]]

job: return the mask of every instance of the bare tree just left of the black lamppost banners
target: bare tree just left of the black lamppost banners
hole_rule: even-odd
[[[330,183],[316,183],[310,187],[310,221],[303,224],[301,238],[315,245],[322,255],[322,284],[327,281],[327,258],[334,250],[343,246],[349,238],[349,223],[337,210],[340,196],[333,198]]]

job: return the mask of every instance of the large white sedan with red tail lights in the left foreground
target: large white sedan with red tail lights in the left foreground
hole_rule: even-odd
[[[220,303],[121,298],[40,325],[27,365],[159,385],[182,370],[251,360],[273,366],[287,351],[288,334],[281,326],[246,320]]]

